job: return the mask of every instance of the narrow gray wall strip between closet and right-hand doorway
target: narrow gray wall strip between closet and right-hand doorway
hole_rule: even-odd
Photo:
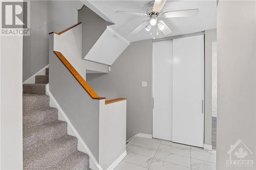
[[[217,41],[217,30],[205,31],[205,117],[204,144],[211,145],[211,43]]]

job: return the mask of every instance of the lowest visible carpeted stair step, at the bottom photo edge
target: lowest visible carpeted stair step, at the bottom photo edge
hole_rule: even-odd
[[[89,156],[80,151],[76,151],[68,157],[62,159],[48,170],[69,170],[86,169],[89,170]]]

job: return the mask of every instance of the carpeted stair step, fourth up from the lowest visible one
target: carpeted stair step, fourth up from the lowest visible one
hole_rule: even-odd
[[[58,119],[58,109],[46,107],[23,111],[23,129],[53,122]]]

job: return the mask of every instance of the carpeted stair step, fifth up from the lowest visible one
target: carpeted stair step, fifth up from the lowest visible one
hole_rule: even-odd
[[[23,110],[46,108],[49,103],[48,95],[23,93]]]

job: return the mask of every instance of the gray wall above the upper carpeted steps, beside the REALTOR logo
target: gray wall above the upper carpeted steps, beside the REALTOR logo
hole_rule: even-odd
[[[23,81],[49,63],[48,1],[30,1],[30,36],[23,38]]]

